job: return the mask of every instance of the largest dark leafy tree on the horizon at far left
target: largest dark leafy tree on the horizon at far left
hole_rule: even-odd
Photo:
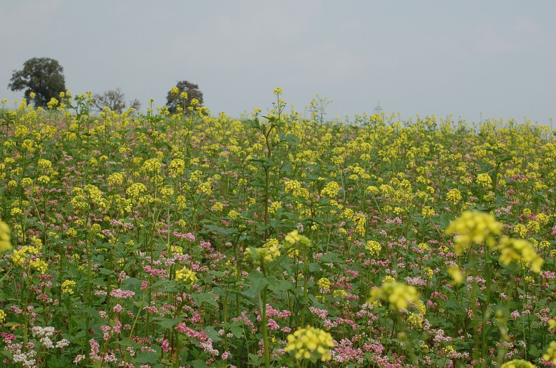
[[[27,99],[34,92],[35,105],[45,107],[52,97],[66,90],[63,71],[54,59],[32,58],[23,63],[23,69],[13,71],[8,88],[12,91],[25,89]]]

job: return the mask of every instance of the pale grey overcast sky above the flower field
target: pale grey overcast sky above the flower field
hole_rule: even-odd
[[[166,103],[199,85],[212,114],[299,111],[327,118],[453,113],[469,121],[556,118],[556,1],[0,1],[0,98],[33,57],[64,68],[73,94],[122,88]]]

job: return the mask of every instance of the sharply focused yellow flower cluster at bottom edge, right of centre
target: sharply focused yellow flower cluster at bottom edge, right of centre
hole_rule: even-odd
[[[332,335],[321,329],[307,325],[287,336],[284,351],[296,351],[295,359],[309,359],[313,352],[318,352],[321,361],[331,360],[330,347],[334,347]]]

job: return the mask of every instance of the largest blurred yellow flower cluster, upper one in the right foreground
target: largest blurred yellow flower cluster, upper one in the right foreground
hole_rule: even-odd
[[[495,240],[492,235],[499,235],[502,226],[502,223],[499,223],[492,214],[481,211],[465,211],[448,225],[445,233],[458,234],[454,239],[454,251],[461,254],[473,242],[486,241],[489,245],[494,245]]]

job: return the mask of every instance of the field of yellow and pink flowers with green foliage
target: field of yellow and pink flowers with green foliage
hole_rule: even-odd
[[[0,366],[556,364],[549,127],[282,98],[3,102]]]

